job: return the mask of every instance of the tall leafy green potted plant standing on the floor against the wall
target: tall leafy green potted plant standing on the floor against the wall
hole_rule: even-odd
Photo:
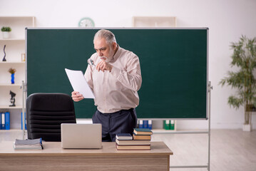
[[[230,107],[238,109],[244,106],[245,122],[244,131],[252,130],[252,106],[256,106],[256,80],[252,71],[256,68],[256,38],[249,39],[245,36],[237,43],[231,43],[232,66],[237,66],[238,71],[229,71],[227,77],[220,81],[224,86],[227,84],[237,89],[237,95],[231,95],[227,103]]]

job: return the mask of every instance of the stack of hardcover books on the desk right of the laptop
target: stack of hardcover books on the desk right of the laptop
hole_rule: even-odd
[[[135,128],[133,136],[128,134],[116,135],[117,150],[150,150],[152,131],[148,128]]]

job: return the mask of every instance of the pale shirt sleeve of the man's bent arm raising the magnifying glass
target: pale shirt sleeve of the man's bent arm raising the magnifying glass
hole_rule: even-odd
[[[140,72],[140,61],[138,56],[133,56],[127,61],[127,71],[113,66],[111,74],[120,81],[123,86],[133,91],[140,90],[142,83],[141,72]]]

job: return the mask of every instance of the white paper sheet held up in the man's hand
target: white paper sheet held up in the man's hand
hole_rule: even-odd
[[[78,91],[83,95],[83,98],[95,98],[93,91],[88,86],[86,78],[83,76],[82,71],[73,71],[65,68],[68,79],[73,87],[73,90]]]

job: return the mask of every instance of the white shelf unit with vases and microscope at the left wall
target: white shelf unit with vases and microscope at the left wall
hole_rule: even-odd
[[[21,61],[21,53],[25,53],[25,28],[35,26],[34,16],[0,16],[0,27],[11,27],[10,38],[0,34],[0,112],[10,112],[11,129],[21,129],[22,90],[21,83],[25,81],[25,62]],[[4,58],[6,45],[6,62]],[[15,68],[15,83],[11,84],[9,68]],[[15,107],[11,105],[10,90],[16,93]]]

